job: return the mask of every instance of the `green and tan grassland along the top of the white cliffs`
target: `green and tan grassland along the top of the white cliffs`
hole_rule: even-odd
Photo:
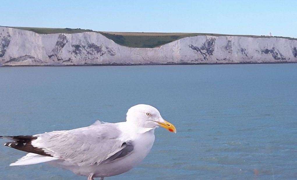
[[[97,32],[105,37],[113,40],[119,45],[133,47],[133,48],[154,48],[169,42],[179,40],[184,37],[193,37],[199,35],[208,36],[241,36],[241,37],[262,37],[269,38],[269,36],[255,36],[255,35],[233,35],[233,34],[211,34],[211,33],[146,33],[146,32],[104,32],[93,31],[91,29],[70,29],[70,28],[34,28],[34,27],[11,27],[16,29],[23,29],[33,31],[39,34],[53,34],[53,33],[80,33],[80,32]],[[277,37],[277,36],[274,36]],[[297,40],[297,38],[279,37],[289,40]]]

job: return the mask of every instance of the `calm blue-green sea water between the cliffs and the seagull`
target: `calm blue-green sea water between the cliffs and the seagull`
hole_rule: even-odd
[[[297,64],[1,67],[0,134],[125,120],[155,106],[157,129],[139,166],[110,179],[297,179]],[[4,143],[5,140],[0,140]],[[86,179],[0,146],[0,179]]]

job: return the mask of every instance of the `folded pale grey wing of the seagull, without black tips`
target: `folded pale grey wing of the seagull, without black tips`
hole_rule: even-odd
[[[109,163],[133,150],[132,143],[121,140],[121,131],[111,123],[53,131],[36,137],[32,146],[79,166]]]

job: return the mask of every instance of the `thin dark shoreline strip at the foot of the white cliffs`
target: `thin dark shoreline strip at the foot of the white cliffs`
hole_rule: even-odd
[[[294,64],[296,62],[238,62],[238,63],[166,63],[166,64],[65,64],[65,65],[0,65],[0,67],[71,67],[71,66],[150,66],[150,65],[216,65],[216,64]]]

